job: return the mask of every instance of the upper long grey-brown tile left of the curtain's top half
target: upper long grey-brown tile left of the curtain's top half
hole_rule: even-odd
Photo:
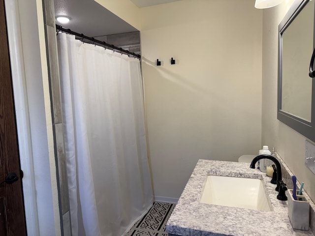
[[[49,73],[50,73],[50,86],[54,114],[54,123],[62,123],[62,104],[61,104],[61,88],[59,79],[59,64],[58,64],[58,51],[55,27],[46,26],[49,55]]]

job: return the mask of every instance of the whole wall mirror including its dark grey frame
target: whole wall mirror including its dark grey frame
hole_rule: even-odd
[[[285,15],[279,25],[278,64],[278,119],[313,141],[315,89],[309,67],[315,45],[314,7],[314,0],[296,0]]]

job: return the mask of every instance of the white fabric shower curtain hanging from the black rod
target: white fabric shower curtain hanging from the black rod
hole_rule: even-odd
[[[121,236],[152,206],[139,59],[59,33],[73,236]]]

